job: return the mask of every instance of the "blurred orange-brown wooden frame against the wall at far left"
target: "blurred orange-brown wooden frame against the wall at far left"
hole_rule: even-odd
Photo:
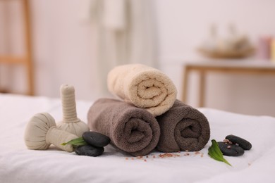
[[[0,55],[0,64],[23,65],[25,68],[25,77],[27,79],[27,91],[25,92],[25,94],[34,95],[32,49],[31,49],[32,46],[31,46],[31,31],[30,31],[30,6],[29,6],[28,0],[18,0],[18,1],[21,1],[22,8],[23,8],[25,53],[23,54],[23,56]]]

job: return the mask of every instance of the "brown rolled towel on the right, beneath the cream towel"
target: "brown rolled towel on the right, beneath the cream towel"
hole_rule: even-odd
[[[176,100],[169,111],[157,117],[157,121],[161,129],[159,151],[200,151],[209,141],[207,118],[181,101]]]

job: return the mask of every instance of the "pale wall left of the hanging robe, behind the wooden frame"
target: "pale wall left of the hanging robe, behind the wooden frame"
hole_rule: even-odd
[[[78,99],[95,99],[97,97],[95,74],[97,70],[95,69],[94,44],[92,44],[95,39],[94,30],[90,23],[80,18],[80,1],[30,0],[30,8],[35,94],[59,97],[59,87],[63,83],[68,83],[75,86]],[[18,47],[18,44],[21,46],[21,51],[10,49],[8,52],[22,53],[23,35],[20,32],[22,29],[20,26],[16,29],[11,26],[13,22],[20,24],[20,1],[0,1],[0,9],[4,10],[0,11],[2,15],[0,17],[4,19],[6,16],[6,19],[13,20],[3,24],[3,27],[16,30],[8,34],[8,40],[12,45],[10,47]],[[4,34],[1,33],[6,32],[1,32],[0,29],[2,37]],[[15,36],[18,39],[13,39]],[[0,51],[5,47],[6,45],[0,44]],[[7,50],[4,49],[4,51]],[[9,68],[8,71],[3,71],[18,75],[21,82],[11,80],[13,74],[6,73],[8,77],[3,75],[6,80],[2,80],[1,84],[13,87],[16,92],[24,92],[24,69]]]

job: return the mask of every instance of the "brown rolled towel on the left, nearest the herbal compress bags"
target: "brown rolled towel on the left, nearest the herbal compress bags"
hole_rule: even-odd
[[[111,144],[133,156],[145,156],[159,141],[159,124],[154,116],[131,103],[99,99],[87,114],[90,130],[110,137]]]

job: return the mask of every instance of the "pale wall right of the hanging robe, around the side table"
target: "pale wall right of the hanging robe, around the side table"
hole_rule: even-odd
[[[209,25],[225,34],[234,23],[253,43],[260,35],[275,36],[275,1],[156,0],[162,69],[173,78],[181,94],[182,63],[202,59],[195,48],[207,37]],[[255,59],[255,58],[252,58]],[[256,58],[257,59],[257,58]],[[197,106],[196,75],[188,103]],[[275,115],[275,76],[210,75],[206,106],[255,115]]]

